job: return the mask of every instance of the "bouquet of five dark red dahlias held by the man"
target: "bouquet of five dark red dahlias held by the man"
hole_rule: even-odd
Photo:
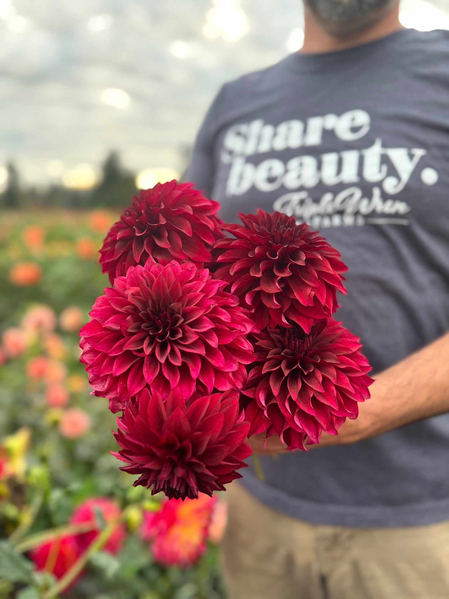
[[[225,490],[248,435],[305,449],[369,397],[359,340],[332,318],[339,253],[294,217],[218,210],[190,183],[142,190],[105,238],[113,286],[80,331],[92,393],[122,411],[121,469],[169,498]]]

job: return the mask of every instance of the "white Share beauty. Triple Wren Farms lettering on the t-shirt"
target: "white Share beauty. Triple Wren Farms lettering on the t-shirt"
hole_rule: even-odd
[[[395,196],[415,171],[420,171],[424,184],[437,183],[437,171],[422,166],[426,150],[386,148],[381,138],[377,138],[362,150],[307,153],[307,148],[323,143],[327,131],[337,140],[351,142],[365,137],[370,128],[371,118],[365,110],[311,117],[306,122],[292,119],[277,126],[262,119],[233,125],[226,133],[221,153],[222,162],[231,165],[226,195],[243,195],[251,188],[262,193],[283,188],[287,191],[275,199],[273,210],[294,215],[298,222],[307,222],[315,228],[365,223],[408,225],[410,207]],[[259,164],[248,161],[250,156],[299,148],[301,154],[288,161],[280,158],[268,158]],[[358,186],[361,180],[372,184],[369,196]],[[317,201],[311,198],[311,190],[318,184],[346,187],[338,193],[329,190]]]

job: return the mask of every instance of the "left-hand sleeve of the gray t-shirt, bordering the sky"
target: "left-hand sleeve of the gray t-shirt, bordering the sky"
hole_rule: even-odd
[[[196,136],[187,167],[184,181],[193,183],[195,188],[210,196],[214,186],[214,145],[217,133],[217,120],[219,119],[220,106],[224,95],[225,86],[217,93],[211,107],[207,111],[205,119]]]

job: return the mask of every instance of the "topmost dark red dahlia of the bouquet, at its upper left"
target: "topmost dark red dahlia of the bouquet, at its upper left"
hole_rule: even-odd
[[[219,203],[192,189],[192,183],[157,183],[134,196],[100,250],[103,272],[111,285],[129,267],[152,256],[160,264],[190,260],[199,268],[211,259],[210,248],[223,237],[215,216]]]

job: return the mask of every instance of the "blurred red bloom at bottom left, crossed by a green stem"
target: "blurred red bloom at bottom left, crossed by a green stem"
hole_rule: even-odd
[[[76,537],[66,535],[38,545],[31,550],[30,557],[37,570],[46,570],[59,579],[70,570],[81,553]]]

